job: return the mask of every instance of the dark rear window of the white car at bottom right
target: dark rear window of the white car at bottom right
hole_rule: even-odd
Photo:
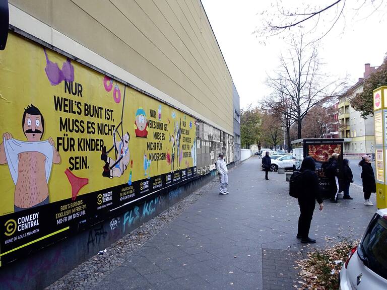
[[[362,245],[368,268],[387,279],[387,220],[380,215],[374,219],[365,234]]]

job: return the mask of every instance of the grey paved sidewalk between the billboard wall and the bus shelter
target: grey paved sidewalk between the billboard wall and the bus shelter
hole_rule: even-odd
[[[294,289],[295,260],[340,237],[360,238],[376,209],[364,206],[361,188],[353,186],[354,200],[326,200],[322,212],[315,210],[310,236],[317,243],[303,245],[295,237],[299,209],[285,175],[269,173],[266,181],[260,168],[261,160],[250,158],[230,170],[228,195],[219,195],[217,183],[211,183],[195,203],[89,286]]]

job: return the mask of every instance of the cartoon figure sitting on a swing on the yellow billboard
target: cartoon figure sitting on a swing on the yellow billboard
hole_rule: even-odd
[[[106,146],[104,146],[101,153],[101,160],[105,162],[102,176],[109,178],[120,177],[131,161],[131,154],[129,152],[129,140],[131,137],[129,133],[126,132],[120,141],[116,141],[115,134],[116,129],[113,131],[113,146],[108,151],[106,151]],[[117,153],[117,160],[107,156],[113,148]]]

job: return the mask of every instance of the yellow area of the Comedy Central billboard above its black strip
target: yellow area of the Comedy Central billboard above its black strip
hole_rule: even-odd
[[[194,166],[192,117],[14,34],[0,61],[0,214]]]

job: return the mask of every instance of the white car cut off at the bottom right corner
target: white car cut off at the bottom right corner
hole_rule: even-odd
[[[387,289],[387,208],[374,214],[340,271],[341,290]]]

